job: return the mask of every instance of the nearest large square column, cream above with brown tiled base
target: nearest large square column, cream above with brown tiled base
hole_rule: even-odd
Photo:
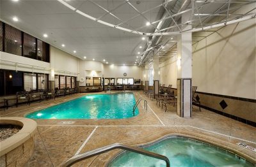
[[[191,13],[182,15],[182,22],[191,17]],[[191,29],[191,25],[185,25],[182,30]],[[179,35],[177,43],[177,115],[191,117],[192,98],[192,33]]]

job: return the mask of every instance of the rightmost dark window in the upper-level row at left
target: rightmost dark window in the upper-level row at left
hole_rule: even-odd
[[[39,61],[50,62],[49,61],[49,44],[41,40],[36,40],[36,41],[37,41],[37,49],[36,49],[37,59]]]

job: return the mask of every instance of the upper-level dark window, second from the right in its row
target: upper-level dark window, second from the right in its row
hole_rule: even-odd
[[[36,38],[24,33],[23,56],[36,59]]]

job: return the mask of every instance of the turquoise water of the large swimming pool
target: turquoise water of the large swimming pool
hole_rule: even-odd
[[[26,115],[30,119],[126,119],[138,115],[132,93],[93,94]]]

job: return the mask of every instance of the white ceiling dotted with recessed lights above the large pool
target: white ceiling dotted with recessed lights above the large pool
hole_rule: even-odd
[[[164,2],[161,0],[129,0],[129,3],[140,12],[150,10],[143,15],[134,10],[126,0],[65,0],[65,2],[77,10],[100,18],[109,24],[117,25],[128,20],[120,26],[127,29],[138,29],[145,33],[154,32],[153,25],[145,26],[145,24],[148,21],[159,20],[164,10],[163,6],[150,10]],[[225,2],[209,3],[200,12],[213,13]],[[175,1],[168,3],[170,6],[173,4]],[[191,8],[191,5],[188,7]],[[111,11],[115,17],[106,11]],[[129,20],[136,15],[139,16]],[[17,16],[19,21],[13,22],[13,16]],[[70,10],[58,0],[19,0],[17,2],[0,0],[0,19],[76,57],[83,59],[86,56],[86,59],[95,59],[96,61],[106,59],[109,64],[134,64],[138,52],[143,52],[147,43],[146,40],[141,40],[141,35],[121,31],[90,20],[76,11]],[[208,18],[208,20],[210,22],[212,18]],[[194,24],[200,24],[199,20]],[[43,37],[44,33],[48,34],[48,38]],[[176,37],[172,37],[175,40]],[[170,38],[170,36],[163,38],[163,43]],[[169,47],[166,45],[166,48],[175,44],[172,41],[170,40],[170,45],[168,45]],[[61,47],[61,44],[65,44],[65,47]],[[142,48],[139,48],[140,46]],[[76,54],[73,53],[74,50],[77,51]]]

